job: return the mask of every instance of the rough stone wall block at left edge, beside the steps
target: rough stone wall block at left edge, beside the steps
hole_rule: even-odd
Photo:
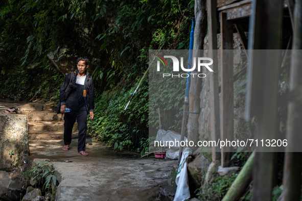
[[[29,154],[26,115],[0,114],[0,168],[11,168]]]

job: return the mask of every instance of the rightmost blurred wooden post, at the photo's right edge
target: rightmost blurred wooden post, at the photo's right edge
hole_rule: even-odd
[[[293,35],[293,50],[290,70],[290,91],[302,86],[301,50],[302,49],[302,2],[296,1],[294,11],[295,29]],[[301,160],[302,153],[297,152],[301,146],[302,131],[302,104],[291,101],[288,104],[287,140],[284,173],[283,173],[283,200],[295,200],[301,193]]]

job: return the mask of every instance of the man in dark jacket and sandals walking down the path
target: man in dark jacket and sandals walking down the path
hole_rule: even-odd
[[[63,150],[69,150],[72,142],[72,130],[77,120],[79,139],[78,152],[82,156],[87,156],[85,152],[87,114],[89,119],[94,118],[94,81],[86,71],[88,59],[79,58],[77,60],[78,69],[68,73],[60,89],[61,113],[65,113],[65,108],[70,108],[70,112],[64,115],[64,146]],[[86,99],[87,98],[87,99]]]

